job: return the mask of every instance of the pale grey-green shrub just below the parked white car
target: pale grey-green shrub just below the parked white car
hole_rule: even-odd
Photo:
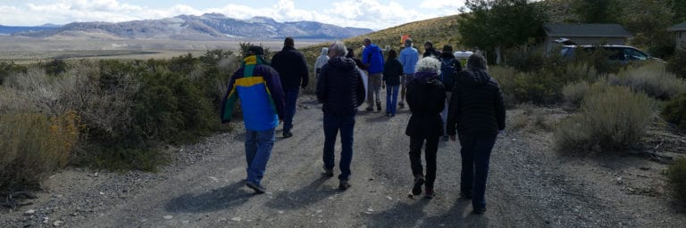
[[[628,86],[661,100],[686,93],[686,82],[667,72],[665,64],[659,62],[622,69],[616,75],[607,76],[607,84]]]

